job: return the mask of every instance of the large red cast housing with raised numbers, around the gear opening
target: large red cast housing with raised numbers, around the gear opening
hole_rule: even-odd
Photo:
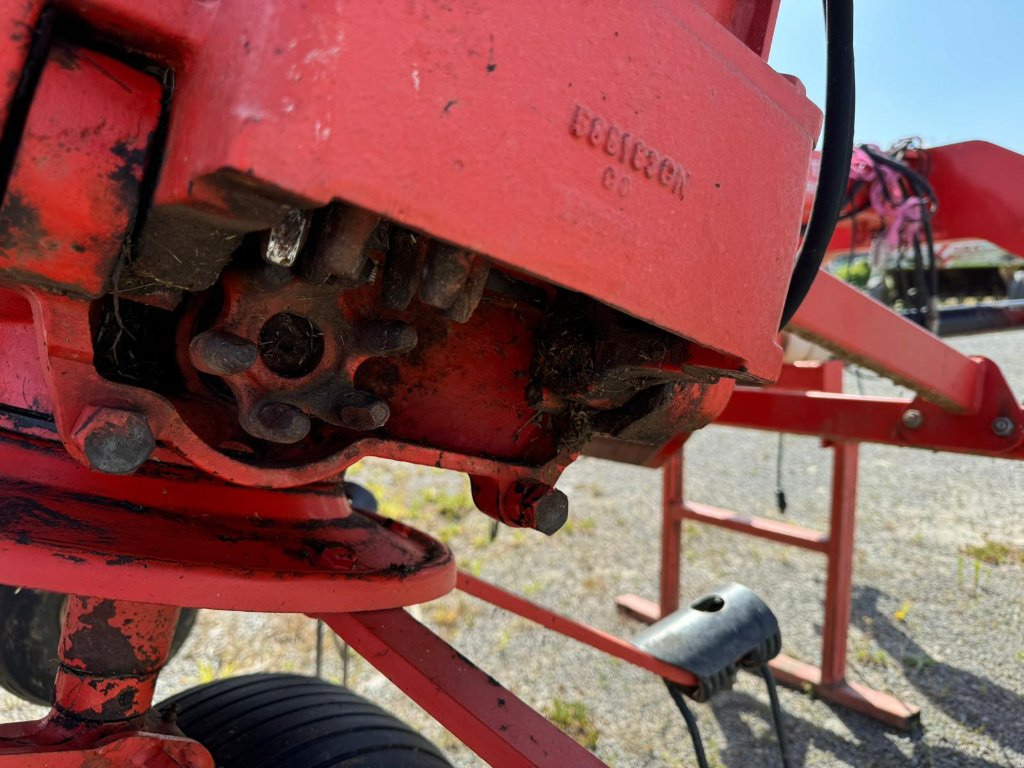
[[[819,122],[799,89],[764,63],[777,3],[703,6],[651,6],[641,14],[658,18],[649,24],[632,9],[609,14],[547,4],[529,14],[495,3],[473,13],[354,7],[338,16],[328,6],[298,13],[289,3],[264,3],[254,13],[250,4],[227,0],[159,8],[88,0],[54,9],[50,60],[32,91],[20,70],[31,74],[35,66],[29,31],[40,23],[42,5],[27,3],[4,19],[11,34],[0,42],[9,82],[23,74],[19,98],[32,98],[25,131],[13,136],[8,127],[5,135],[8,143],[20,141],[14,194],[0,220],[11,236],[8,279],[88,296],[119,279],[120,299],[167,308],[180,289],[209,288],[244,234],[341,199],[471,247],[513,274],[543,279],[549,291],[560,285],[598,296],[691,340],[686,375],[699,388],[680,391],[677,411],[691,412],[680,428],[697,428],[724,402],[718,379],[764,381],[777,368],[778,347],[762,331],[774,327],[785,289],[797,234],[787,213],[799,209]],[[102,46],[130,50],[133,63],[83,47],[80,39],[90,34],[83,23]],[[512,53],[529,47],[556,58]],[[605,55],[595,55],[602,49]],[[628,71],[611,65],[625,50],[634,52]],[[140,55],[152,63],[140,63]],[[655,66],[670,55],[687,60],[690,73]],[[163,82],[139,72],[154,65],[167,68]],[[546,81],[552,72],[558,76]],[[637,78],[644,87],[636,87]],[[171,84],[166,140],[153,143],[163,89],[169,93]],[[75,105],[73,118],[56,109],[65,102]],[[487,128],[496,114],[507,117],[500,140]],[[775,136],[776,152],[760,152],[760,138],[749,135],[755,122]],[[58,145],[51,150],[47,141]],[[147,152],[160,157],[147,163]],[[61,172],[42,161],[59,161]],[[143,169],[158,161],[156,188],[144,201],[151,205],[136,217]],[[42,211],[33,224],[38,231],[26,228],[16,201]],[[740,212],[778,223],[710,237],[716,217]],[[133,231],[131,249],[122,249],[136,219],[143,225]],[[22,247],[26,238],[33,242]],[[41,264],[32,260],[40,248],[52,251]],[[766,254],[773,266],[758,267],[769,275],[759,281],[763,300],[745,303],[740,328],[731,322],[737,314],[711,297],[725,295],[726,285],[748,271],[737,259],[753,268]],[[701,286],[687,302],[677,301],[671,282],[660,279],[680,259],[688,280]],[[618,269],[624,263],[628,270]],[[362,313],[353,323],[365,316],[366,300],[376,298],[364,294],[344,307]],[[503,313],[485,301],[458,334],[428,323],[414,364],[396,357],[356,370],[358,355],[341,355],[344,373],[380,399],[377,412],[390,407],[386,434],[340,442],[316,435],[317,451],[278,451],[254,461],[225,449],[238,440],[199,400],[168,401],[159,387],[97,375],[96,305],[45,292],[29,298],[49,389],[44,413],[54,415],[74,457],[105,471],[130,471],[148,456],[146,444],[157,443],[226,480],[282,487],[382,455],[500,478],[500,498],[485,511],[530,525],[536,515],[528,505],[508,508],[510,488],[550,486],[578,450],[568,441],[552,444],[551,429],[539,426],[523,395],[529,338],[540,322],[521,319],[528,315],[524,304]],[[721,322],[726,316],[730,322]],[[312,394],[323,394],[307,386],[287,396],[274,392],[278,400],[264,403],[262,385],[254,394],[230,384],[239,420],[258,436],[267,431],[248,411],[297,409],[295,400],[308,406]],[[44,403],[37,397],[32,404]],[[134,458],[104,465],[88,456],[79,429],[101,408],[145,418],[133,428],[145,438]],[[330,409],[317,413],[329,423],[336,419]],[[304,432],[305,417],[296,418],[288,438],[294,441]]]

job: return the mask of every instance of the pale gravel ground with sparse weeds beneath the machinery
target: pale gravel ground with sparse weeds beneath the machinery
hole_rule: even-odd
[[[954,341],[995,359],[1024,393],[1024,332]],[[886,381],[847,388],[896,391]],[[767,517],[774,510],[774,435],[712,427],[687,449],[687,496]],[[786,437],[785,519],[827,522],[830,452]],[[622,592],[654,597],[659,473],[584,459],[559,486],[570,522],[547,539],[503,529],[469,509],[464,478],[438,470],[364,462],[353,479],[388,514],[447,541],[463,567],[556,610],[630,637],[641,627],[612,604]],[[906,735],[794,691],[781,692],[799,766],[1024,767],[1024,473],[1012,462],[865,445],[861,449],[849,677],[918,705],[922,729]],[[687,524],[684,598],[727,581],[755,587],[773,607],[787,653],[818,660],[822,559],[766,542]],[[985,545],[1001,564],[965,548]],[[692,752],[662,683],[557,635],[510,618],[473,598],[450,595],[418,616],[527,703],[555,713],[610,765],[689,766]],[[340,681],[329,648],[326,676]],[[312,672],[314,628],[300,616],[205,611],[161,680],[160,695],[257,670]],[[350,686],[393,710],[444,748],[460,766],[482,765],[365,662],[351,656]],[[579,702],[579,706],[577,703]],[[39,708],[5,696],[7,719]],[[777,765],[763,683],[695,706],[714,766]]]

